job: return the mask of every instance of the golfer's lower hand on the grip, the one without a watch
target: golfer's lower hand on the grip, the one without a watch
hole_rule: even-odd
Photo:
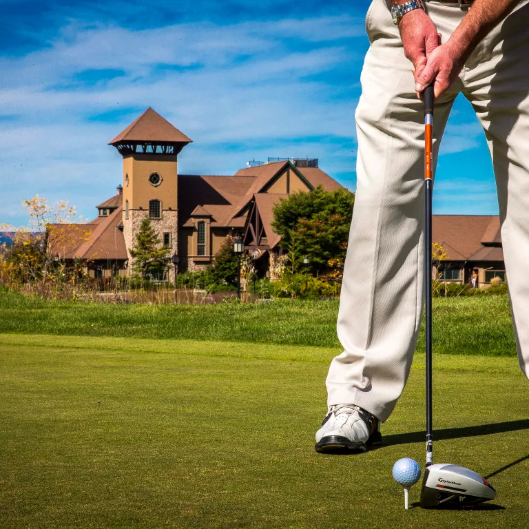
[[[433,93],[437,99],[455,81],[464,65],[462,50],[448,41],[439,46],[428,57],[426,67],[415,76],[415,91],[421,95],[433,83]]]

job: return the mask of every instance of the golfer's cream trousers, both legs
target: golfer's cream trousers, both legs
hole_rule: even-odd
[[[356,404],[382,421],[406,384],[424,305],[424,112],[387,4],[373,0],[366,17],[371,47],[355,114],[357,194],[338,315],[344,352],[326,380],[329,405]],[[443,41],[466,15],[434,1],[426,8]],[[492,156],[519,363],[528,375],[529,0],[479,43],[437,102],[434,162],[459,92]]]

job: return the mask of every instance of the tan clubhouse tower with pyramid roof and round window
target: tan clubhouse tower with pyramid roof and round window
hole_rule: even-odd
[[[123,156],[123,235],[129,262],[144,218],[151,219],[171,253],[178,249],[177,158],[188,143],[185,134],[148,108],[109,144]],[[169,270],[172,280],[174,270]]]

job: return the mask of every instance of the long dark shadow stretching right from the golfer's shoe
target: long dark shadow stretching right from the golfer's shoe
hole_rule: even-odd
[[[496,422],[492,424],[480,424],[479,426],[463,426],[461,428],[446,428],[444,430],[434,430],[433,439],[442,441],[446,439],[461,439],[461,437],[475,437],[477,435],[490,435],[492,433],[514,432],[517,430],[528,430],[529,419],[519,421]],[[393,446],[395,444],[424,443],[426,433],[396,433],[384,435],[382,446]]]

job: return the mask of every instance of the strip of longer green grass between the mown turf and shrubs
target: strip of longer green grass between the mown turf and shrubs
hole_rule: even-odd
[[[508,297],[435,298],[435,352],[515,356]],[[218,305],[53,302],[0,291],[0,333],[339,346],[336,301]],[[419,352],[424,351],[423,335]]]

